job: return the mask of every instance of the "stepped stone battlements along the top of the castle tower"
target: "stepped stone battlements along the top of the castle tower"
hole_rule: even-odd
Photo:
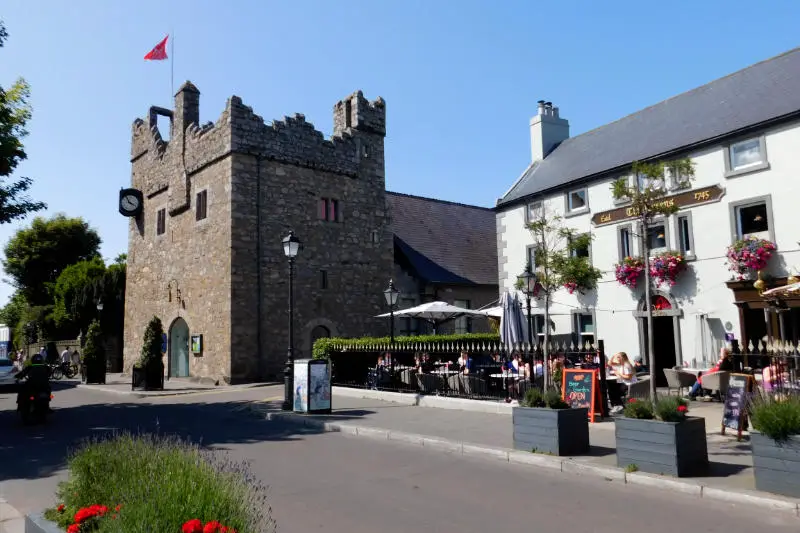
[[[152,162],[169,162],[171,166],[173,158],[181,157],[191,174],[228,152],[237,152],[355,177],[366,153],[367,138],[386,134],[384,100],[370,102],[361,91],[334,106],[334,135],[330,139],[301,113],[267,123],[238,96],[228,99],[215,123],[200,126],[199,95],[197,88],[186,82],[175,95],[174,111],[151,107],[146,120],[136,119],[131,161],[147,155]],[[159,118],[170,122],[169,141],[160,134]],[[148,189],[149,194],[155,194],[163,187],[151,184],[146,193]]]

